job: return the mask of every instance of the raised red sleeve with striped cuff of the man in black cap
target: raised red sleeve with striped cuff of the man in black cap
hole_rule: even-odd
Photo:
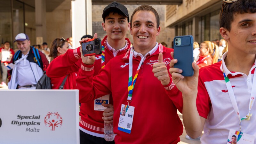
[[[49,77],[62,77],[73,72],[77,72],[82,63],[80,47],[68,49],[68,51],[51,61],[46,69]]]

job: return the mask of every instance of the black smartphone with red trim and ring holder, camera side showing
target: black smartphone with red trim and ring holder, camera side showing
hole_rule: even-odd
[[[101,54],[101,39],[100,38],[93,38],[89,39],[88,41],[82,43],[82,51],[83,56],[90,56],[90,55],[97,55]]]

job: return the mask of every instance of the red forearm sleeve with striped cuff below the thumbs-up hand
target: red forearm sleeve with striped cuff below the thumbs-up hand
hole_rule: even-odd
[[[167,95],[169,96],[169,98],[172,100],[175,107],[180,111],[180,113],[182,113],[182,107],[183,107],[182,93],[173,83],[172,76],[170,76],[170,83],[167,85],[164,85],[164,89]]]

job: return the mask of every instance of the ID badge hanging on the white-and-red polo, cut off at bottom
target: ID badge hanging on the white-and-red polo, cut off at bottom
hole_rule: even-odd
[[[236,130],[230,130],[228,134],[227,144],[254,144],[254,136],[239,132]]]

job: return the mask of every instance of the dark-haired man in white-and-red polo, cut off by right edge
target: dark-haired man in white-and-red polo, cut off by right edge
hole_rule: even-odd
[[[228,42],[220,62],[200,72],[193,63],[192,77],[173,68],[177,60],[171,62],[173,82],[183,95],[184,126],[191,138],[204,130],[203,144],[225,143],[239,132],[239,143],[256,144],[256,1],[224,0],[220,34]]]

